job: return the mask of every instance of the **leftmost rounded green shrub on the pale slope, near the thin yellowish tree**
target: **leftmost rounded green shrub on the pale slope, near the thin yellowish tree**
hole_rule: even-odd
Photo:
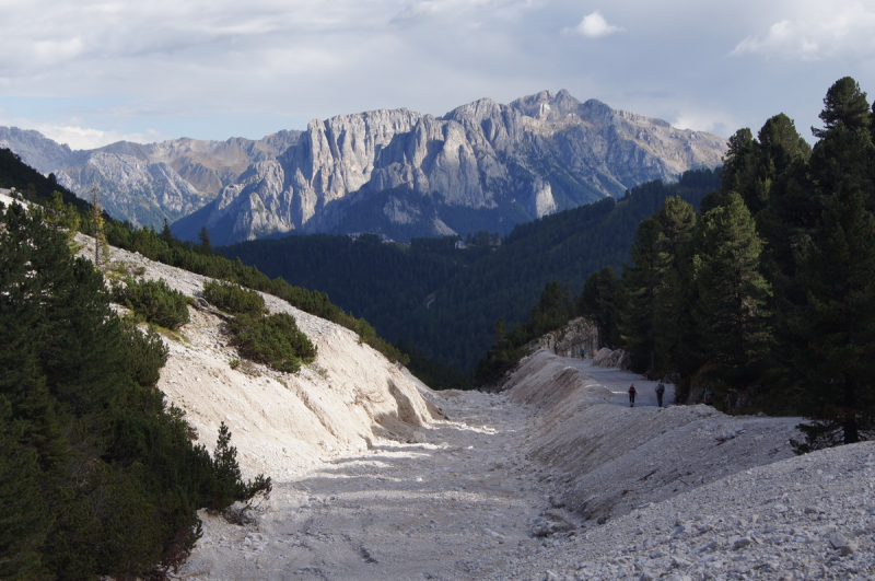
[[[189,321],[185,294],[163,280],[138,282],[127,278],[124,284],[114,284],[113,294],[137,316],[164,328],[176,330]]]

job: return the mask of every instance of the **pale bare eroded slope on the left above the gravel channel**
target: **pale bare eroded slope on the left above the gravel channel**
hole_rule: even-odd
[[[163,279],[191,298],[200,297],[209,280],[118,248],[112,248],[110,260],[130,270],[142,267],[144,278]],[[313,363],[296,374],[246,362],[232,369],[240,356],[228,345],[223,319],[189,307],[191,321],[179,332],[185,339],[165,338],[170,358],[158,384],[186,411],[208,449],[220,425],[229,426],[245,477],[265,473],[283,480],[372,443],[413,441],[418,430],[443,417],[425,398],[431,390],[360,342],[355,333],[276,297],[264,298],[271,313],[294,316],[318,350]]]

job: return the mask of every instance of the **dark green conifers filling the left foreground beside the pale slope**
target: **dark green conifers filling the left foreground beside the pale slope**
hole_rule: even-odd
[[[0,578],[163,579],[199,538],[198,509],[270,479],[241,480],[224,426],[212,457],[192,442],[156,390],[159,334],[117,316],[43,218],[0,205]]]

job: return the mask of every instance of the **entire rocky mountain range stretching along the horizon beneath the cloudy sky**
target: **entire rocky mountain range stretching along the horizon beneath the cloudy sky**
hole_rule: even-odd
[[[567,91],[503,105],[483,98],[442,117],[405,108],[313,120],[254,141],[176,139],[71,151],[0,128],[0,147],[136,224],[176,221],[214,244],[289,233],[396,240],[509,232],[559,210],[714,167],[725,140],[616,111]]]

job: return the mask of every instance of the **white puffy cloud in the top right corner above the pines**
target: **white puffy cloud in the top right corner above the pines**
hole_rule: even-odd
[[[875,58],[875,9],[861,2],[801,3],[797,13],[745,37],[731,56],[815,61]]]

